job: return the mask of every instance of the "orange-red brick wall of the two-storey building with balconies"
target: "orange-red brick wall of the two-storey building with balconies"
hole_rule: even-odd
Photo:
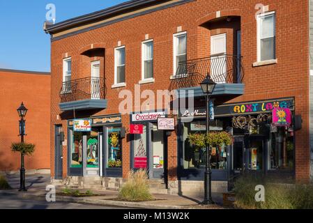
[[[241,17],[242,56],[245,69],[245,93],[229,102],[242,102],[247,100],[264,100],[269,98],[282,98],[294,96],[296,99],[296,114],[303,117],[303,129],[296,132],[296,178],[307,180],[310,176],[309,151],[309,76],[308,76],[308,3],[307,1],[291,0],[265,0],[262,3],[269,6],[269,10],[276,11],[276,55],[278,63],[270,66],[252,67],[257,61],[257,22],[254,15],[256,4],[259,1],[207,1],[198,0],[185,3],[181,6],[159,10],[154,13],[124,20],[99,29],[94,29],[75,36],[69,36],[52,42],[52,105],[51,122],[63,123],[56,116],[59,110],[59,89],[62,82],[63,54],[72,55],[72,73],[80,75],[84,71],[81,49],[91,48],[92,44],[101,44],[105,47],[105,72],[108,107],[102,112],[92,115],[107,115],[119,113],[119,92],[123,89],[134,91],[135,84],[141,79],[141,50],[145,35],[154,40],[154,77],[152,84],[142,84],[141,89],[168,89],[169,77],[173,75],[173,34],[177,27],[188,32],[188,59],[208,56],[210,52],[209,36],[226,32],[229,40],[233,40],[232,31],[238,27],[227,26],[212,31],[200,25],[220,15]],[[114,84],[114,47],[118,41],[125,45],[126,66],[125,75],[127,86],[121,89],[111,89]],[[227,53],[232,54],[234,42],[227,42]],[[89,69],[89,68],[87,68]],[[138,108],[134,107],[137,111]],[[129,125],[129,116],[123,116],[123,125]],[[54,140],[51,131],[51,142]],[[176,167],[176,134],[169,138],[169,168]],[[123,141],[123,176],[129,168],[129,146],[126,139]],[[51,144],[52,167],[54,163],[54,144]],[[64,148],[66,157],[66,148]],[[126,159],[125,159],[126,157]],[[64,174],[66,174],[66,162]],[[175,178],[174,176],[171,176]]]

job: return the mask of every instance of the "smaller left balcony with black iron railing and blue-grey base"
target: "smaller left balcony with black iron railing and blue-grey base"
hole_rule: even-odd
[[[62,111],[105,109],[105,79],[99,77],[86,77],[63,82],[60,91]]]

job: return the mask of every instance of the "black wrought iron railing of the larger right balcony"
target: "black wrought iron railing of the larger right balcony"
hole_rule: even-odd
[[[242,56],[220,54],[180,62],[170,89],[200,86],[206,75],[217,84],[241,84],[244,77]]]

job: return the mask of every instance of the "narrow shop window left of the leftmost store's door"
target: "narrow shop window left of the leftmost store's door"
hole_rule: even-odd
[[[72,149],[71,149],[71,168],[82,167],[82,152],[83,152],[83,142],[82,142],[82,132],[72,132]]]

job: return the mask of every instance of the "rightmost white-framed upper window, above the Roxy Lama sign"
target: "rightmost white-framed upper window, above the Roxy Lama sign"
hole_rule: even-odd
[[[276,59],[275,12],[265,13],[257,19],[258,61]]]

